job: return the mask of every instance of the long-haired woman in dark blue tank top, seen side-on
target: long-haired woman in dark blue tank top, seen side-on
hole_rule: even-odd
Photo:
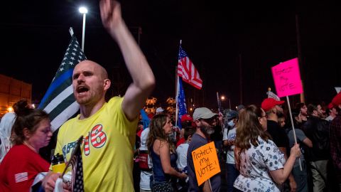
[[[153,162],[152,191],[175,191],[171,176],[187,178],[175,170],[177,155],[174,144],[168,139],[173,124],[168,114],[156,114],[149,124],[148,149]]]

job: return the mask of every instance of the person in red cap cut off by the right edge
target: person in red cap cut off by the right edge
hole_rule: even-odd
[[[339,191],[341,191],[341,92],[332,99],[332,105],[337,108],[338,114],[332,119],[329,127],[330,155],[332,156],[332,164],[337,174]]]

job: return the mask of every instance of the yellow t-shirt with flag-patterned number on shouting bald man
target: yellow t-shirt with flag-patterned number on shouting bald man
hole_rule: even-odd
[[[70,160],[77,139],[81,151],[85,191],[134,191],[133,149],[137,118],[129,121],[121,108],[122,97],[113,97],[87,119],[80,114],[58,132],[55,154]]]

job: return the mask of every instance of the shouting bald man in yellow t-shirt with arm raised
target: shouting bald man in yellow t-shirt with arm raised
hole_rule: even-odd
[[[155,79],[121,18],[119,3],[101,0],[99,6],[102,23],[117,41],[133,82],[124,97],[105,102],[104,96],[110,87],[107,71],[90,60],[78,63],[73,70],[72,87],[80,104],[80,114],[60,127],[55,154],[63,154],[70,161],[75,143],[82,135],[85,191],[134,191],[132,170],[137,117],[153,90]],[[45,176],[42,183],[45,191],[53,191],[59,176],[52,172]]]

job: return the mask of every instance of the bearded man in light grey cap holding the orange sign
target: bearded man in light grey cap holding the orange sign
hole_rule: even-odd
[[[215,116],[218,115],[213,113],[206,107],[196,108],[193,113],[193,120],[196,124],[195,134],[193,134],[190,146],[188,146],[187,164],[188,164],[188,178],[189,188],[188,191],[211,191],[210,184],[212,186],[212,192],[220,191],[220,174],[216,174],[210,178],[209,181],[205,181],[201,186],[197,186],[197,178],[195,176],[195,169],[192,158],[192,151],[207,144],[207,139],[210,134],[215,132],[213,125],[215,123]]]

